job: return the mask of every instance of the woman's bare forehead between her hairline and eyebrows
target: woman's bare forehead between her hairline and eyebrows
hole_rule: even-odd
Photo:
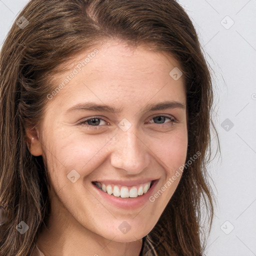
[[[183,77],[175,80],[169,74],[179,64],[164,52],[107,41],[91,50],[81,51],[65,64],[69,70],[55,75],[55,86],[67,81],[66,77],[74,70],[76,72],[55,96],[58,100],[66,98],[70,104],[73,103],[70,99],[129,103],[161,97],[185,104]]]

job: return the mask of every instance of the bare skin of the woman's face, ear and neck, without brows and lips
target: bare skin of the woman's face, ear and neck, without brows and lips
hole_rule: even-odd
[[[142,237],[156,224],[181,175],[153,202],[128,210],[103,200],[91,181],[154,177],[159,179],[156,192],[185,163],[184,80],[169,75],[179,67],[178,62],[165,53],[143,46],[131,48],[117,40],[106,41],[97,49],[96,56],[48,100],[40,125],[27,130],[29,150],[43,156],[52,186],[49,221],[37,239],[45,255],[138,255]],[[79,53],[69,63],[70,70],[89,52]],[[70,70],[57,74],[55,85]],[[180,102],[184,108],[142,111],[148,103],[167,100]],[[87,101],[121,111],[67,111]],[[166,118],[158,123],[153,119],[162,115]],[[102,118],[97,128],[91,122],[78,123],[95,116]],[[117,125],[123,118],[131,124],[125,132]],[[72,169],[80,175],[74,183],[67,178]],[[123,221],[131,227],[125,234],[118,229]]]

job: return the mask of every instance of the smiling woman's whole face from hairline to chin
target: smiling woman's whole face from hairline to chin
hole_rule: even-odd
[[[134,241],[154,227],[181,177],[172,178],[186,159],[184,80],[170,76],[179,65],[163,53],[118,41],[97,50],[55,76],[53,90],[72,77],[48,95],[30,152],[47,163],[52,211],[63,208],[63,221]]]

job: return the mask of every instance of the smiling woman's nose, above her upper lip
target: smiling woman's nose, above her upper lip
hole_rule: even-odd
[[[125,170],[128,174],[138,174],[149,166],[150,149],[145,145],[142,135],[135,129],[119,130],[115,135],[111,165]],[[126,173],[126,174],[127,174]]]

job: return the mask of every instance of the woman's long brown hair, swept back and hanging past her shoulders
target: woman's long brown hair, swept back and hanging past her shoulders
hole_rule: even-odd
[[[206,205],[209,226],[213,214],[206,172],[212,83],[196,31],[175,0],[30,0],[20,12],[0,52],[0,205],[8,216],[0,226],[0,255],[31,253],[50,212],[45,165],[42,156],[30,154],[25,129],[42,120],[60,64],[109,38],[166,52],[180,63],[188,114],[186,161],[200,155],[184,168],[149,235],[161,256],[202,255],[200,203]],[[15,228],[20,221],[29,226],[22,235]]]

